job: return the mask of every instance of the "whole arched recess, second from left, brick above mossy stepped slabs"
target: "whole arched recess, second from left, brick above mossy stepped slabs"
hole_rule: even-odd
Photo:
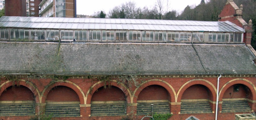
[[[80,117],[80,99],[76,92],[66,86],[52,88],[46,97],[45,114],[52,117]]]

